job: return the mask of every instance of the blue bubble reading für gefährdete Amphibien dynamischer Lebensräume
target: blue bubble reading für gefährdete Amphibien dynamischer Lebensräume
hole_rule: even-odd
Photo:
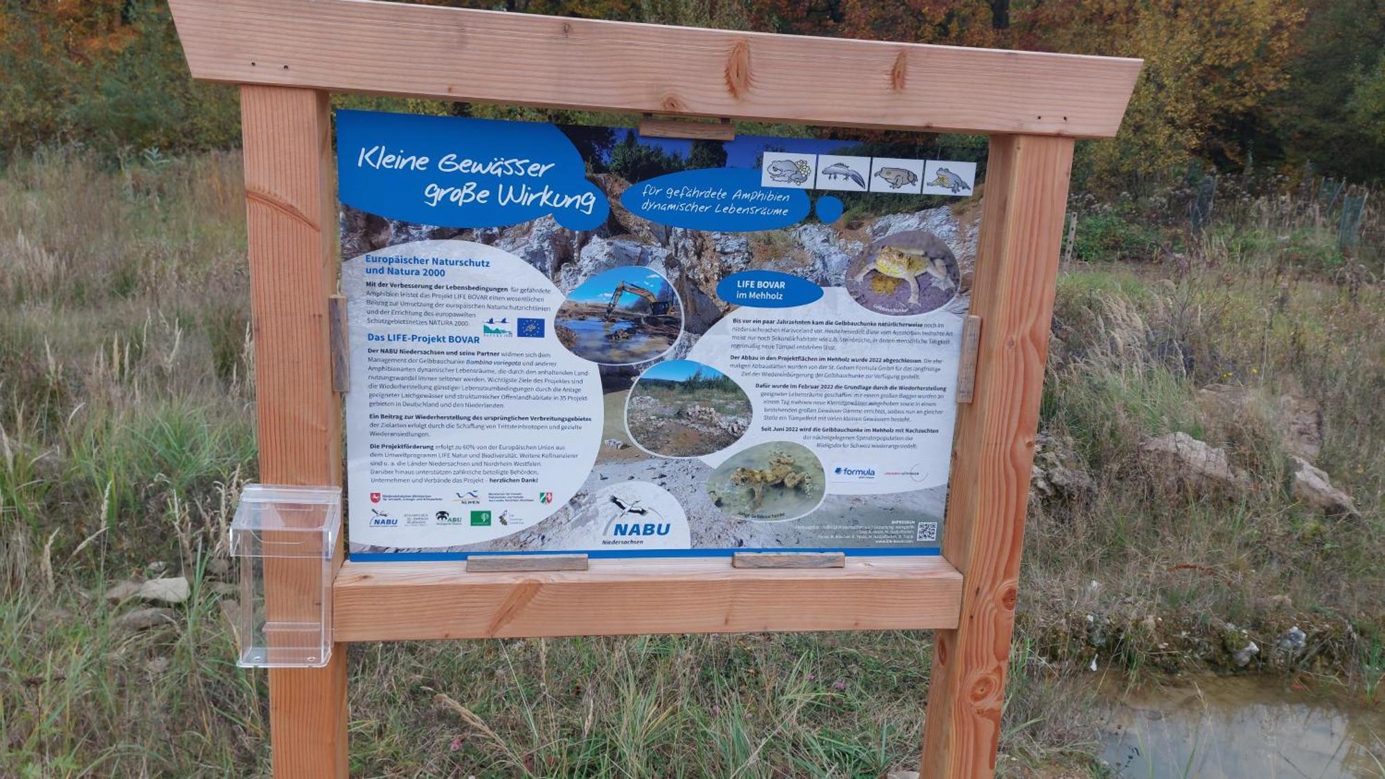
[[[753,168],[702,168],[636,182],[620,205],[651,222],[723,233],[788,227],[812,208],[803,190],[762,187]]]

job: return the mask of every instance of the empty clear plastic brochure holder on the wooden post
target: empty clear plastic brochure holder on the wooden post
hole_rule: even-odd
[[[341,524],[339,487],[247,484],[241,489],[231,521],[231,554],[241,568],[237,665],[327,665],[331,566]]]

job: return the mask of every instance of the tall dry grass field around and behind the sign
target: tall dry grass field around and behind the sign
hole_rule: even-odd
[[[1227,631],[1269,647],[1301,625],[1306,656],[1249,669],[1385,697],[1385,292],[1379,256],[1342,256],[1310,211],[1230,204],[1147,247],[1159,262],[1107,262],[1120,236],[1079,231],[1043,426],[1094,489],[1032,511],[1003,775],[1102,775],[1073,678],[1224,668]],[[230,152],[0,170],[0,775],[267,772],[265,674],[231,661],[216,574],[255,477],[244,240]],[[1295,500],[1273,414],[1209,413],[1212,383],[1316,399],[1317,464],[1360,517]],[[1244,488],[1156,478],[1138,445],[1172,431],[1224,446]],[[190,599],[127,629],[137,604],[101,593],[161,568]],[[928,633],[353,646],[352,775],[878,776],[917,767],[931,651]]]

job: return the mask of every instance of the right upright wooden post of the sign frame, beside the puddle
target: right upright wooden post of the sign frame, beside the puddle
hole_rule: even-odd
[[[956,631],[939,631],[924,776],[990,776],[1000,739],[1072,140],[990,141],[972,313],[985,327],[975,402],[958,406],[943,556],[964,577]]]

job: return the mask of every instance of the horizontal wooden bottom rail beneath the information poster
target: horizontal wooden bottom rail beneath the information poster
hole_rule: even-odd
[[[852,557],[845,568],[737,570],[724,559],[591,560],[587,571],[463,571],[350,563],[338,642],[957,625],[961,577],[942,557]]]

